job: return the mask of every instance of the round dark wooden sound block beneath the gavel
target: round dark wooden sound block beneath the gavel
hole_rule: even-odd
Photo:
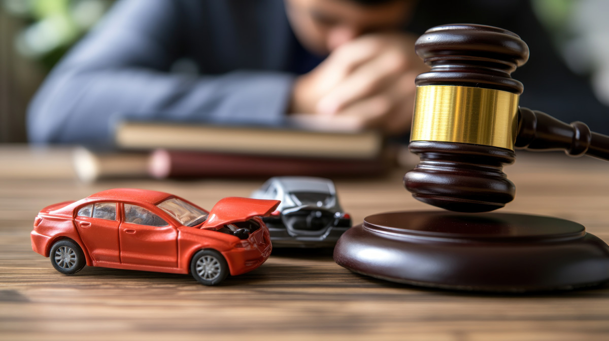
[[[509,213],[371,215],[339,239],[353,272],[435,288],[524,292],[609,280],[609,246],[577,222]]]

